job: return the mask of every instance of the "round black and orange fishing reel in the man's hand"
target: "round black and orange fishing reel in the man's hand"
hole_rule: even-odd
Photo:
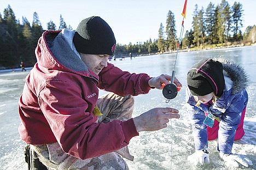
[[[176,98],[179,90],[181,90],[180,86],[176,86],[175,84],[172,84],[172,83],[169,83],[169,84],[162,83],[162,95],[164,95],[166,99]]]

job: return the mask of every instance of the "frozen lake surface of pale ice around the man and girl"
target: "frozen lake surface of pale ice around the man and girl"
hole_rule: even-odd
[[[176,77],[182,82],[183,88],[177,97],[166,103],[162,90],[152,89],[148,94],[135,97],[133,117],[154,107],[173,107],[179,110],[180,119],[173,119],[165,129],[155,132],[140,132],[131,139],[130,153],[135,160],[126,160],[132,170],[147,169],[234,169],[224,165],[216,150],[217,141],[209,142],[210,165],[191,166],[187,156],[194,153],[194,141],[189,116],[185,108],[185,88],[187,71],[197,61],[207,57],[225,56],[241,64],[250,82],[247,88],[249,101],[245,117],[245,136],[235,142],[234,150],[238,154],[247,155],[256,169],[256,46],[225,48],[211,51],[179,52],[176,64]],[[129,72],[145,72],[154,77],[160,74],[172,74],[176,54],[125,58],[110,61],[120,69]],[[29,71],[29,70],[28,70]],[[0,72],[0,169],[27,169],[23,149],[25,143],[18,133],[20,119],[18,116],[18,100],[24,86],[28,71]],[[100,94],[106,92],[101,91]],[[245,169],[244,167],[236,169]]]

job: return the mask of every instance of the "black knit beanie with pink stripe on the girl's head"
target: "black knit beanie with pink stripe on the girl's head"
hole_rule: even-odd
[[[187,75],[190,92],[194,96],[203,96],[214,92],[218,97],[224,89],[223,65],[212,59],[202,59],[196,63]]]

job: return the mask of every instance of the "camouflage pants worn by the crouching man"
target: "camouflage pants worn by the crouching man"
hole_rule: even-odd
[[[127,120],[132,116],[134,98],[131,95],[119,96],[108,93],[101,96],[97,101],[102,116],[99,116],[98,123],[107,123],[113,119]],[[31,145],[32,156],[39,160],[48,169],[129,169],[125,160],[121,157],[133,161],[128,147],[121,148],[115,152],[91,159],[81,160],[66,154],[59,143],[45,145]]]

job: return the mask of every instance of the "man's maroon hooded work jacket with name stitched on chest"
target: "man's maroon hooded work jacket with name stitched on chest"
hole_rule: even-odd
[[[146,94],[150,77],[130,74],[110,63],[96,75],[64,37],[61,31],[46,31],[38,40],[37,63],[26,77],[19,100],[21,138],[33,145],[58,142],[63,151],[80,159],[126,146],[138,135],[133,119],[95,123],[92,111],[98,88],[118,95]]]

